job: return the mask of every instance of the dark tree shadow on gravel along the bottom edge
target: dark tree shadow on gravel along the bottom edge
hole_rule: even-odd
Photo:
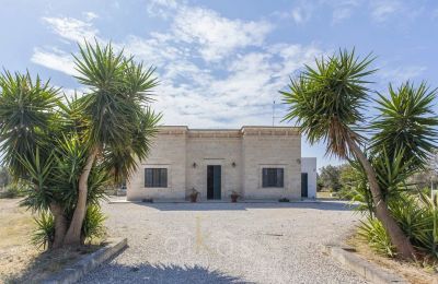
[[[237,276],[200,265],[107,263],[80,283],[249,283]]]

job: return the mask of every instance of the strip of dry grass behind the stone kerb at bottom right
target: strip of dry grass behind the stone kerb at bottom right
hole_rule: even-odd
[[[347,244],[354,247],[362,258],[379,267],[391,270],[403,275],[407,281],[415,284],[438,284],[438,273],[431,264],[410,263],[396,259],[390,259],[374,253],[368,244],[357,235],[351,236]]]

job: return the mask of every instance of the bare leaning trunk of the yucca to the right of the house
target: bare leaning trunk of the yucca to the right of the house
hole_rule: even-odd
[[[376,205],[377,218],[382,223],[383,227],[387,229],[388,234],[390,235],[391,241],[395,246],[400,257],[402,257],[403,259],[415,258],[414,247],[412,246],[408,237],[405,236],[399,224],[392,217],[387,203],[382,199],[382,192],[380,190],[376,173],[374,169],[372,168],[371,163],[368,161],[364,152],[354,141],[349,140],[348,146],[350,147],[355,156],[359,159],[360,164],[364,166],[364,169],[367,174],[368,182],[372,194],[372,201]]]

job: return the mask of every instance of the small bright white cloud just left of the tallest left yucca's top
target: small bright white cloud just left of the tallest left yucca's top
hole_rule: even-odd
[[[35,48],[31,61],[69,75],[79,74],[74,69],[72,56],[59,49],[43,50],[41,48]]]

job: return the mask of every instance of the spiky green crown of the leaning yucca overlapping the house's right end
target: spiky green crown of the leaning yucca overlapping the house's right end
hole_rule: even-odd
[[[364,120],[361,110],[368,100],[367,78],[371,55],[359,59],[355,51],[315,60],[315,68],[306,66],[288,92],[280,92],[289,107],[285,120],[296,120],[311,144],[326,142],[326,153],[349,156],[347,140],[361,142],[354,128]]]

